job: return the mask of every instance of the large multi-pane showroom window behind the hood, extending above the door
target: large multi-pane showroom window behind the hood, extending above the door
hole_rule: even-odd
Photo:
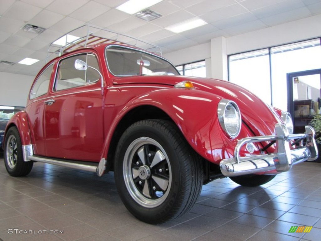
[[[319,68],[320,39],[307,40],[230,55],[229,81],[247,88],[266,103],[287,111],[286,74]]]

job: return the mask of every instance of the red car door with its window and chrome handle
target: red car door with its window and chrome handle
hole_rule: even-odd
[[[76,59],[100,69],[94,53],[73,54],[59,61],[46,99],[46,156],[98,162],[103,145],[102,80],[94,69],[77,70]]]

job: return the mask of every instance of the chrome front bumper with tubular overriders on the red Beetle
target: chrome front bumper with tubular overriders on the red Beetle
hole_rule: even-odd
[[[286,172],[294,164],[317,159],[318,150],[314,139],[315,131],[310,126],[306,126],[305,130],[304,134],[289,134],[285,125],[276,124],[276,135],[240,139],[234,149],[234,157],[221,160],[220,168],[222,174],[224,176],[240,176],[272,170]],[[299,138],[306,138],[306,145],[291,150],[290,140]],[[264,141],[276,141],[277,152],[257,156],[239,156],[241,147],[246,143]]]

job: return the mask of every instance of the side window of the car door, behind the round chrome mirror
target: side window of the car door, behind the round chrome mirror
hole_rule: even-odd
[[[88,85],[99,80],[100,75],[94,69],[76,69],[74,67],[76,59],[80,59],[86,62],[87,65],[99,70],[97,58],[93,54],[81,54],[62,59],[59,62],[55,91]]]

